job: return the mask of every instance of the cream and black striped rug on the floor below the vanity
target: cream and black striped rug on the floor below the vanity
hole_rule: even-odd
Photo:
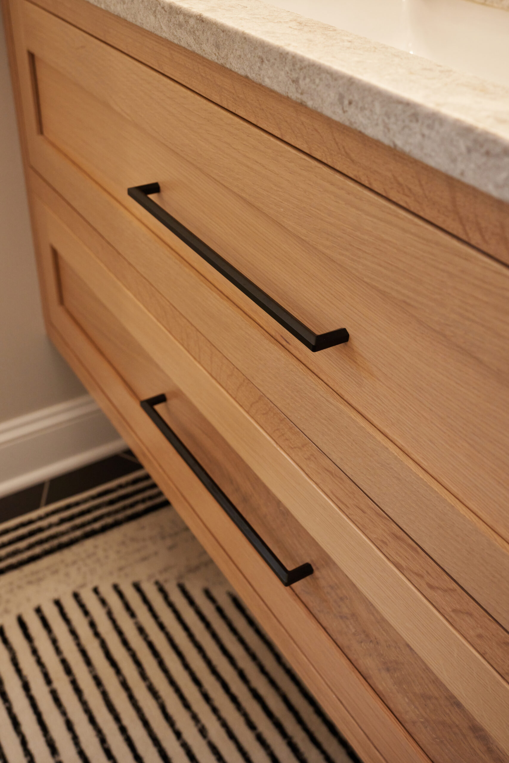
[[[143,470],[0,542],[0,763],[357,760]]]

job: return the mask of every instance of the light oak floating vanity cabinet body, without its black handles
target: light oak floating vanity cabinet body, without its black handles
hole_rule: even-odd
[[[85,0],[4,9],[56,346],[366,763],[509,761],[509,271],[503,235],[458,213],[473,198],[500,232],[505,209],[367,139],[371,181],[362,159],[347,177],[330,121]],[[421,172],[413,195],[396,167]],[[127,195],[153,182],[311,334],[349,342],[311,352]],[[161,394],[313,575],[276,578],[140,406]]]

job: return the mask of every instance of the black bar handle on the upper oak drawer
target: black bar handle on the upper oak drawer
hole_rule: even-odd
[[[270,316],[277,320],[281,326],[285,327],[293,336],[295,336],[299,342],[304,344],[308,349],[311,349],[312,353],[317,353],[320,349],[327,349],[327,347],[335,347],[337,344],[343,344],[348,342],[350,335],[346,329],[336,329],[333,331],[327,331],[322,334],[315,334],[314,331],[308,329],[307,326],[301,324],[292,313],[288,313],[284,307],[276,302],[272,297],[269,297],[265,291],[253,284],[249,278],[230,265],[226,259],[223,259],[221,255],[214,252],[210,246],[201,241],[194,233],[191,233],[186,227],[179,223],[175,217],[166,212],[163,207],[156,204],[150,195],[160,192],[159,183],[148,183],[147,185],[136,185],[133,188],[127,188],[127,193],[134,201],[137,201],[143,209],[150,212],[159,223],[163,223],[172,233],[175,233],[181,241],[191,247],[199,256],[205,259],[213,268],[224,275],[230,283],[237,286],[240,291],[247,297],[256,302],[256,304],[266,311]]]

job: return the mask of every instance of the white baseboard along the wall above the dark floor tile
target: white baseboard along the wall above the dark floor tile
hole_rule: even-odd
[[[4,421],[0,423],[0,497],[126,448],[89,394]]]

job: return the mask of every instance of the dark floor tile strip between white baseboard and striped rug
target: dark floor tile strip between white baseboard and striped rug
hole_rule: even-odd
[[[18,493],[6,495],[0,498],[0,522],[7,522],[27,511],[91,490],[96,485],[123,477],[139,468],[141,465],[134,453],[125,450],[118,453],[118,456],[110,456],[108,459],[75,469],[74,472],[67,472]]]

